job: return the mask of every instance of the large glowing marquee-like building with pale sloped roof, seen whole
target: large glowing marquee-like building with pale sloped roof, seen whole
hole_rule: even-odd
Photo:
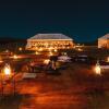
[[[71,49],[74,47],[73,39],[63,34],[37,34],[27,39],[26,49]]]

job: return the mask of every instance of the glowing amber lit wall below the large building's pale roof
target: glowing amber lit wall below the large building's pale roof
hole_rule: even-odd
[[[71,49],[74,47],[73,40],[45,40],[45,39],[32,39],[27,41],[26,49]]]

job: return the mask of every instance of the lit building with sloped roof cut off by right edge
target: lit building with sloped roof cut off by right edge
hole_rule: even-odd
[[[109,34],[98,38],[98,48],[109,48]]]

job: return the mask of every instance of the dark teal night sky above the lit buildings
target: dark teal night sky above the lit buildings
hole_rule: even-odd
[[[63,33],[76,41],[95,40],[109,33],[109,1],[0,2],[0,37],[28,38],[38,33]]]

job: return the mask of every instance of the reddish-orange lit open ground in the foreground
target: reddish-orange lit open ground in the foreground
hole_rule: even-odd
[[[96,75],[92,68],[69,63],[64,70],[43,71],[36,78],[4,85],[0,109],[109,109],[109,72]]]

